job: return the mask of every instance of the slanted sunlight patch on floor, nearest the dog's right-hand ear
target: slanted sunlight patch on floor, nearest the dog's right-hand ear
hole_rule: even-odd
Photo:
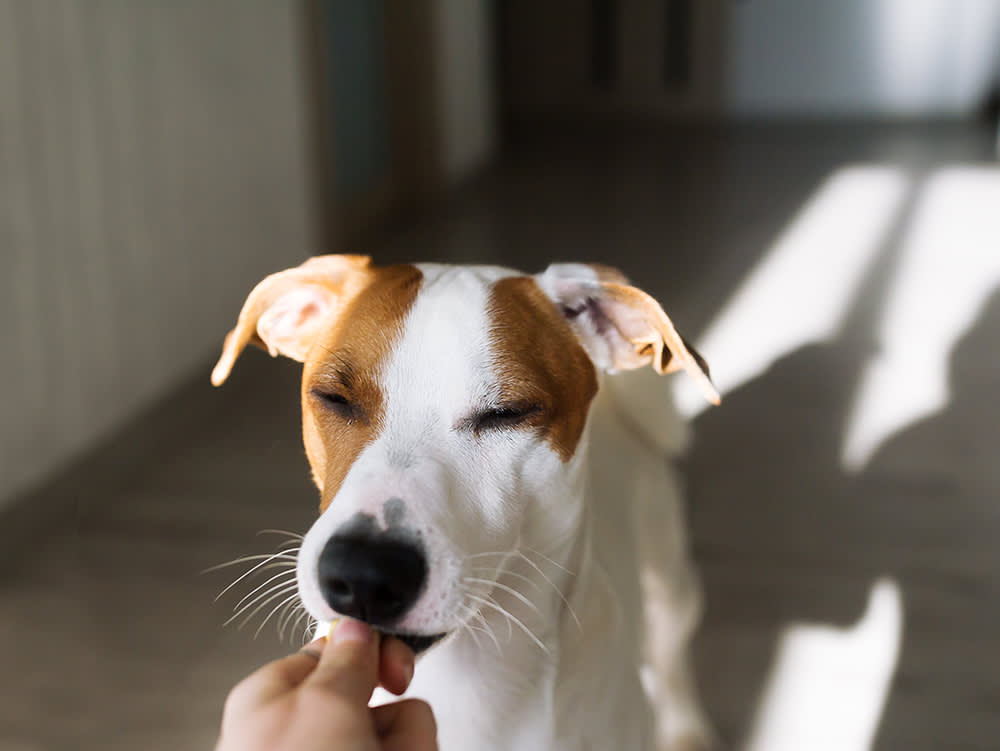
[[[806,203],[698,340],[723,398],[784,355],[837,332],[908,182],[895,167],[844,167]],[[694,417],[707,404],[686,381],[675,379],[675,393]]]

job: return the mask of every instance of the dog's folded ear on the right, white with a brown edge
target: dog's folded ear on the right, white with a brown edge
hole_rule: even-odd
[[[660,304],[620,271],[554,263],[535,279],[597,367],[615,372],[651,365],[660,374],[683,368],[708,401],[719,403],[708,364],[677,333]]]

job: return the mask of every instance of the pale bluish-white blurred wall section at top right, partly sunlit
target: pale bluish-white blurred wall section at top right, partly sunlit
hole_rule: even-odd
[[[998,51],[996,0],[744,0],[729,18],[726,107],[963,114],[1000,76]]]

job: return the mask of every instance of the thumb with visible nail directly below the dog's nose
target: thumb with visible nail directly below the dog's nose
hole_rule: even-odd
[[[367,705],[378,685],[378,645],[378,634],[367,624],[343,619],[305,685]]]

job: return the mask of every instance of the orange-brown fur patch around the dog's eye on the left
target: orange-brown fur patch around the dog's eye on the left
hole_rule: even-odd
[[[372,269],[363,289],[320,335],[302,375],[302,433],[326,510],[358,455],[382,429],[379,373],[403,330],[423,274],[414,266]],[[317,393],[344,397],[348,412]]]

